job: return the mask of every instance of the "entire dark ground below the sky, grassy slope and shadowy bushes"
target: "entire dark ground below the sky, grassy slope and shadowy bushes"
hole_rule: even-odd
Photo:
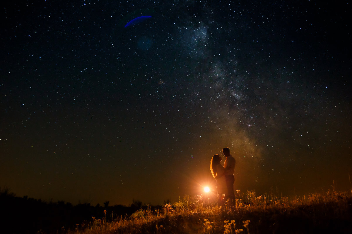
[[[1,233],[352,233],[352,191],[334,189],[303,197],[237,191],[236,207],[218,206],[206,195],[184,196],[164,206],[104,206],[44,202],[0,193]]]

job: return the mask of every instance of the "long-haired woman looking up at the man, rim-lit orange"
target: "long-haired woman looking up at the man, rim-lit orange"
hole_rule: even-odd
[[[215,154],[210,161],[210,171],[216,180],[216,190],[218,194],[218,204],[222,206],[225,204],[223,194],[227,194],[227,186],[225,180],[225,168],[220,164],[222,158],[220,155]]]

